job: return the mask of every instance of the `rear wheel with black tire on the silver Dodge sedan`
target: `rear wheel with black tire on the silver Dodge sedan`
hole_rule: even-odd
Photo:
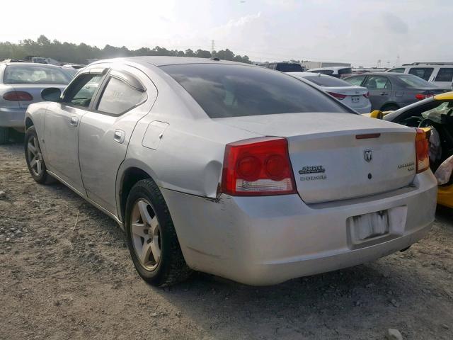
[[[164,196],[154,181],[144,179],[132,187],[125,217],[127,246],[147,283],[173,285],[190,276]]]

